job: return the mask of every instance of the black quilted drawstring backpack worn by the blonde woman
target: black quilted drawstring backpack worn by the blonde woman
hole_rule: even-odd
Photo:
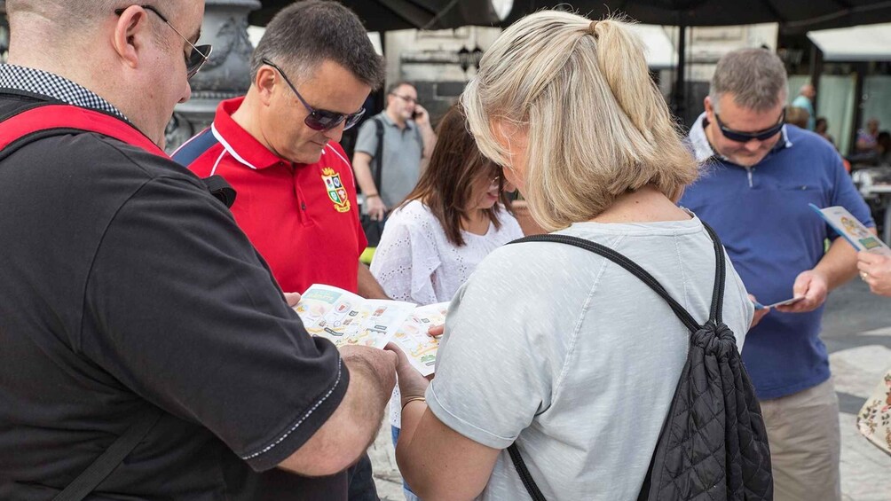
[[[566,235],[535,235],[511,242],[558,242],[602,255],[653,289],[690,329],[687,361],[638,501],[773,499],[771,455],[761,408],[733,333],[722,320],[723,246],[714,230],[707,225],[706,230],[715,243],[717,270],[711,311],[701,326],[650,273],[609,247]],[[529,495],[544,501],[516,443],[508,453]]]

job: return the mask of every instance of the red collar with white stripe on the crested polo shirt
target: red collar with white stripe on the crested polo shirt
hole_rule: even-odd
[[[290,164],[290,161],[281,158],[266,148],[257,138],[241,125],[235,123],[232,114],[241,107],[244,96],[220,102],[217,106],[217,115],[211,126],[214,136],[223,148],[236,160],[252,169],[265,169],[266,167]]]

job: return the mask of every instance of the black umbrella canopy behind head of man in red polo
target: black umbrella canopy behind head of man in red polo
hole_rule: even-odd
[[[266,26],[294,0],[261,0],[249,22]],[[368,31],[393,29],[447,29],[468,25],[491,26],[499,22],[488,0],[340,0],[359,16]]]

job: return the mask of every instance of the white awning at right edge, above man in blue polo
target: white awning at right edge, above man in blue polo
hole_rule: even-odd
[[[823,61],[891,61],[891,23],[810,31]]]

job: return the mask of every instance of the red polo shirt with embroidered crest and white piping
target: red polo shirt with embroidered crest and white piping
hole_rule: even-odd
[[[173,158],[200,177],[219,174],[233,186],[235,221],[283,291],[302,293],[320,283],[356,292],[366,241],[347,154],[330,142],[315,164],[279,158],[232,119],[243,99],[221,102],[214,123]]]

